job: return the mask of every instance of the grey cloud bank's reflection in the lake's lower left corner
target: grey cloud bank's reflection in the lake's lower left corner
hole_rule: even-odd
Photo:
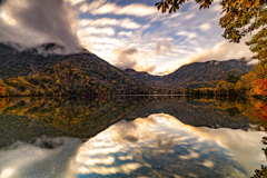
[[[31,144],[16,141],[0,150],[0,177],[76,177],[68,167],[81,144],[67,137],[42,137]]]

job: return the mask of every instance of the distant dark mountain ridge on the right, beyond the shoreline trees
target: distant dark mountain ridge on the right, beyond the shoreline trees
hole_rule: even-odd
[[[151,87],[175,87],[175,88],[202,88],[216,87],[216,85],[225,80],[228,75],[241,77],[246,75],[253,66],[247,65],[245,59],[228,61],[207,61],[184,65],[172,73],[167,76],[151,76],[145,72],[126,71],[138,80],[146,81]],[[152,85],[151,85],[152,82]]]

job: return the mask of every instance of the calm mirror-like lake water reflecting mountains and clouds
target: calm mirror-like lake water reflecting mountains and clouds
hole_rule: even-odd
[[[266,106],[177,96],[0,98],[0,178],[264,175]]]

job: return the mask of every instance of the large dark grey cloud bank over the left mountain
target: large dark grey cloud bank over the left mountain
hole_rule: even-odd
[[[12,0],[0,4],[1,42],[18,42],[28,48],[55,42],[63,46],[66,53],[81,49],[73,29],[77,14],[63,0]]]

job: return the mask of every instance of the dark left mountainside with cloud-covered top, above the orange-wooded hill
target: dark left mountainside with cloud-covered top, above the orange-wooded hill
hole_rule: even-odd
[[[109,65],[107,61],[82,50],[76,55],[56,55],[55,51],[63,50],[63,47],[48,43],[32,49],[18,51],[10,46],[0,43],[0,78],[17,78],[28,76],[42,76],[40,73],[49,67],[68,62],[83,71],[86,76],[98,81],[113,93],[140,93],[150,87],[127,72]]]

